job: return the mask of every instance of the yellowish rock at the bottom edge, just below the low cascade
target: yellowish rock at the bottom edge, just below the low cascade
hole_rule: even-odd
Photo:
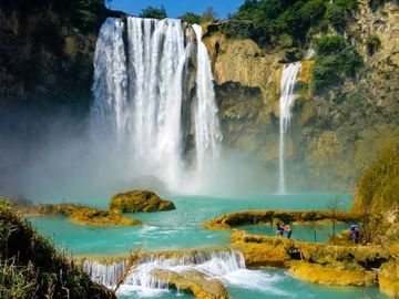
[[[226,288],[218,279],[208,279],[204,274],[195,270],[175,272],[170,270],[154,270],[153,277],[166,281],[180,290],[192,292],[198,299],[228,298]]]

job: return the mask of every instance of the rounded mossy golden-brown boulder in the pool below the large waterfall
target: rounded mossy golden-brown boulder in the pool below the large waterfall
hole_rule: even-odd
[[[149,190],[131,190],[112,196],[110,210],[117,213],[160,212],[171,210],[176,207],[170,200],[160,198]]]

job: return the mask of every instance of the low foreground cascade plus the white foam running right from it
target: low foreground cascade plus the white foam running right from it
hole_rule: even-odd
[[[83,262],[83,269],[91,279],[109,288],[116,285],[120,272],[124,271],[125,267],[125,261],[110,266],[95,261]],[[170,270],[180,274],[196,270],[209,279],[217,278],[225,285],[286,295],[275,287],[279,278],[258,270],[247,270],[243,254],[236,250],[184,254],[177,258],[150,256],[132,268],[120,288],[120,295],[136,293],[139,297],[152,298],[160,292],[168,291],[168,281],[155,279],[152,276],[154,270]]]

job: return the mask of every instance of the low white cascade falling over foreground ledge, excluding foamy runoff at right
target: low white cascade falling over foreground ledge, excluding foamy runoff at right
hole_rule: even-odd
[[[125,261],[109,266],[95,261],[83,262],[83,269],[89,274],[91,279],[109,288],[116,285],[125,267]],[[176,258],[164,258],[162,256],[151,255],[130,271],[123,282],[124,289],[135,291],[167,290],[167,281],[153,278],[152,271],[154,270],[171,270],[176,272],[197,270],[208,277],[226,280],[232,272],[245,270],[245,260],[244,256],[236,250],[214,252],[196,251]]]

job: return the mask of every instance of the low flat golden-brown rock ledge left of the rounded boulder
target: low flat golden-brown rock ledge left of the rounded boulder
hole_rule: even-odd
[[[66,216],[79,225],[127,226],[142,224],[140,220],[127,218],[116,213],[75,204],[39,205],[32,208],[31,213]]]

